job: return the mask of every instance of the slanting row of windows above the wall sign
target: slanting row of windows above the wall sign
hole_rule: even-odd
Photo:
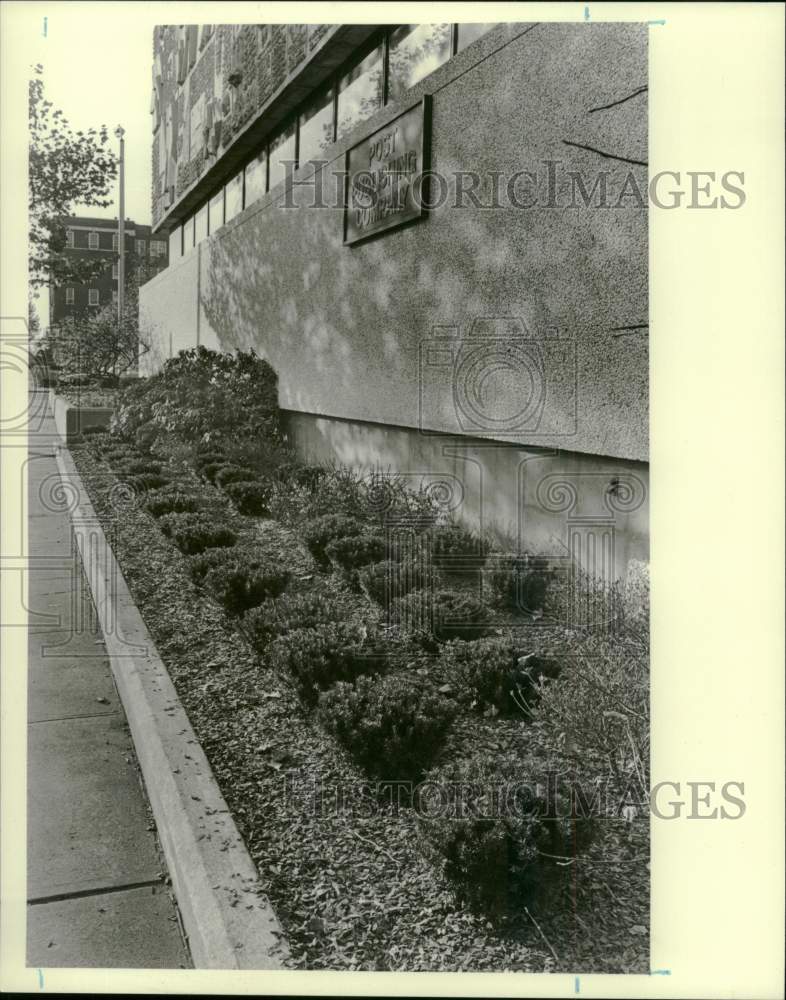
[[[174,260],[286,179],[287,170],[320,158],[359,122],[433,73],[493,28],[487,24],[401,24],[387,29],[317,91],[224,187],[169,236]]]

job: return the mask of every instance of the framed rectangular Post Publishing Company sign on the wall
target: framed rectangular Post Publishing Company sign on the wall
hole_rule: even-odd
[[[430,97],[347,150],[344,243],[357,243],[426,213]]]

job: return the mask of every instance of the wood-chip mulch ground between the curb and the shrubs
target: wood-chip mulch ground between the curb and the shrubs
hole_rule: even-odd
[[[604,824],[588,854],[572,862],[561,905],[495,927],[462,905],[429,863],[413,811],[364,793],[368,778],[289,679],[260,662],[234,621],[195,587],[155,519],[112,490],[117,481],[96,450],[74,448],[74,459],[286,931],[294,968],[648,971],[647,815]],[[231,510],[190,470],[178,478]],[[363,595],[321,573],[291,529],[222,516],[244,541],[286,560],[290,590],[323,587],[341,594],[348,617],[379,616]],[[431,668],[423,660],[413,669]],[[537,745],[537,727],[521,720],[465,715],[444,756],[481,748],[531,756]]]

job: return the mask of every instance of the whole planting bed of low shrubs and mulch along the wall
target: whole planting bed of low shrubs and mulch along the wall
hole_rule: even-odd
[[[231,433],[170,412],[184,395],[171,383],[192,367],[198,381],[220,369],[222,396],[236,382],[229,361],[192,361],[158,389],[124,394],[125,424],[86,436],[75,460],[293,966],[647,969],[646,807],[618,808],[648,782],[646,572],[621,589],[613,629],[558,615],[536,624],[511,609],[507,584],[490,585],[499,554],[443,519],[427,491],[383,474],[298,474],[271,407],[256,458],[250,421],[231,445]],[[170,401],[164,423],[159,393]],[[215,412],[232,409],[224,399]],[[160,473],[123,472],[145,458]],[[232,466],[256,478],[218,485],[205,471],[217,479]],[[136,502],[121,508],[107,469],[132,486],[145,475],[165,482],[134,487]],[[265,504],[243,509],[234,491],[255,484]],[[391,546],[392,523],[401,544]],[[208,525],[234,543],[178,546],[177,531],[202,538]],[[485,561],[483,573],[439,575],[424,554],[443,528],[439,553]],[[366,562],[380,538],[381,558]],[[399,589],[388,608],[390,579]],[[609,785],[603,822],[542,817],[539,785],[554,771]],[[462,782],[489,772],[531,794],[521,793],[521,815],[448,822],[428,800],[375,786],[423,772],[449,805]],[[481,782],[471,801],[487,794]]]

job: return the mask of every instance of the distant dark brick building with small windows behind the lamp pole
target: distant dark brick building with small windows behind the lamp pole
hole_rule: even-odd
[[[66,282],[49,288],[49,323],[56,326],[68,316],[99,309],[117,302],[117,219],[72,216],[66,220],[66,256],[104,262],[103,271],[84,284]],[[126,220],[126,282],[140,284],[167,266],[169,242],[166,234],[153,234],[150,226]]]

